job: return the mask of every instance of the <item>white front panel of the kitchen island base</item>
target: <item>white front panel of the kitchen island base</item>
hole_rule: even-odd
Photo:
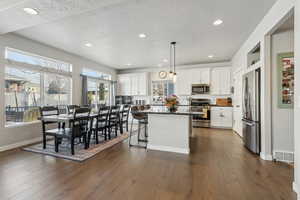
[[[190,115],[149,113],[148,120],[148,149],[190,153]]]

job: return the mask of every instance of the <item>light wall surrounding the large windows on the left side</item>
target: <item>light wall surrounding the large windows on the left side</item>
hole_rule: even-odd
[[[74,104],[81,103],[81,78],[80,73],[83,67],[95,69],[112,75],[115,79],[116,71],[112,68],[100,65],[96,62],[82,58],[80,56],[67,53],[65,51],[43,45],[41,43],[17,36],[15,34],[0,35],[0,61],[4,59],[5,47],[12,47],[22,51],[34,53],[37,55],[50,57],[62,60],[73,65],[73,90],[72,99]],[[3,63],[3,62],[0,62]],[[41,125],[28,124],[21,127],[5,128],[4,121],[4,69],[5,66],[0,64],[0,151],[9,147],[14,147],[15,144],[25,144],[26,141],[32,141],[41,136]]]

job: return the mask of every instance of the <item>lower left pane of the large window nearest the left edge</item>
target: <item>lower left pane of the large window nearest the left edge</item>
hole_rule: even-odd
[[[5,68],[5,113],[7,124],[37,120],[41,104],[40,73]]]

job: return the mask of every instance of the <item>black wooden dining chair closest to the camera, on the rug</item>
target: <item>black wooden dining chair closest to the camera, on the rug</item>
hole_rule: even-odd
[[[74,113],[73,119],[70,120],[70,128],[64,129],[52,129],[47,130],[47,134],[54,136],[55,138],[55,151],[58,152],[59,141],[63,139],[69,140],[71,144],[71,153],[75,154],[75,139],[83,138],[84,148],[89,147],[88,134],[89,134],[89,121],[90,121],[90,109],[89,108],[77,108]]]

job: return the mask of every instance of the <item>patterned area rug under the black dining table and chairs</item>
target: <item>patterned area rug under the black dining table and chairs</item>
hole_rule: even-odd
[[[96,154],[108,149],[120,142],[123,142],[129,137],[129,133],[119,134],[116,138],[105,141],[102,137],[99,138],[99,144],[96,144],[94,140],[91,140],[90,147],[88,149],[84,149],[83,144],[75,145],[75,154],[71,154],[70,144],[67,142],[62,142],[59,146],[59,152],[55,152],[54,141],[47,141],[46,149],[43,149],[43,143],[34,144],[28,147],[23,148],[25,151],[40,153],[44,155],[50,155],[57,158],[63,158],[73,161],[82,162],[85,161]]]

